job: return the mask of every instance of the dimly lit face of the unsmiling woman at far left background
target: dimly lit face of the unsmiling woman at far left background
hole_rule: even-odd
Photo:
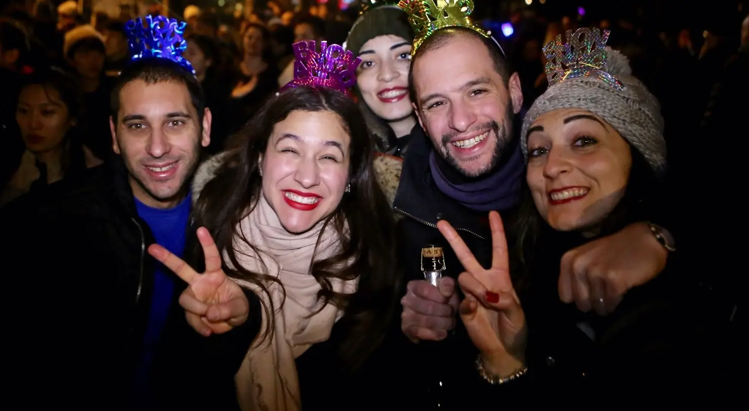
[[[44,153],[61,146],[75,120],[57,90],[43,85],[27,85],[16,106],[16,122],[26,148]]]

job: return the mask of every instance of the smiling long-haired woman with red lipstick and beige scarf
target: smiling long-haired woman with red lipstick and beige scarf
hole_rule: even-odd
[[[309,82],[268,100],[193,183],[195,223],[264,305],[235,377],[243,410],[346,409],[387,364],[373,353],[398,303],[392,211],[357,103]]]

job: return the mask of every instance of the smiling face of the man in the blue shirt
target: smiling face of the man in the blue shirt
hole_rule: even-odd
[[[129,82],[120,91],[112,144],[130,172],[133,195],[156,208],[174,207],[186,195],[200,147],[210,143],[210,111],[202,124],[187,86],[178,82]]]

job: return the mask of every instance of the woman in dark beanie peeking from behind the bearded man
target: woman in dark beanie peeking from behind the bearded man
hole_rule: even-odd
[[[362,14],[354,22],[345,49],[362,59],[354,92],[360,99],[377,150],[402,156],[416,126],[408,98],[413,30],[397,1],[361,0]]]

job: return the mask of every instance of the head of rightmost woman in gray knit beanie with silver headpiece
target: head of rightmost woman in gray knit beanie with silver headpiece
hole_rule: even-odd
[[[545,46],[550,86],[525,116],[521,145],[542,218],[557,231],[597,234],[626,192],[638,192],[634,203],[649,197],[644,186],[666,170],[666,142],[658,100],[624,55],[604,48],[608,32],[578,31],[589,43],[575,33]]]

